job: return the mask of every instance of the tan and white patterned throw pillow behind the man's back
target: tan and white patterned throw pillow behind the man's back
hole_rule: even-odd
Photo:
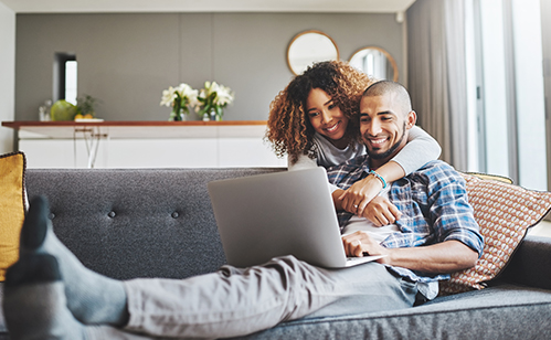
[[[505,268],[527,230],[551,210],[551,192],[505,183],[504,178],[462,174],[485,246],[475,267],[456,272],[451,280],[439,283],[441,295],[484,288]]]

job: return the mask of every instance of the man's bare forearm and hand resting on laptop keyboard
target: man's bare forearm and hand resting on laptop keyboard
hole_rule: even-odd
[[[342,237],[348,256],[386,255],[379,263],[424,273],[453,273],[470,268],[478,259],[478,253],[455,240],[405,248],[385,248],[364,232]]]

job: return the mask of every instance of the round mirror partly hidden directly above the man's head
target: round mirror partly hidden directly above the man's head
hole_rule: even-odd
[[[368,46],[356,51],[350,65],[378,79],[398,82],[396,62],[381,47]]]

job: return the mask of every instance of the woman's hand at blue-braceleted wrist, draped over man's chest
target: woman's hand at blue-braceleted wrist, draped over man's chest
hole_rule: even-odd
[[[342,202],[342,209],[361,216],[363,210],[381,189],[382,182],[374,176],[368,176],[363,180],[353,183],[338,198]]]

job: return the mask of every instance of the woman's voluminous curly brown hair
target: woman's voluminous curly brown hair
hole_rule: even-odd
[[[374,81],[343,61],[321,62],[308,67],[279,92],[269,105],[266,139],[277,157],[287,155],[296,162],[299,155],[316,158],[314,127],[306,113],[306,99],[312,88],[326,92],[349,118],[345,138],[360,138],[358,117],[360,99]]]

